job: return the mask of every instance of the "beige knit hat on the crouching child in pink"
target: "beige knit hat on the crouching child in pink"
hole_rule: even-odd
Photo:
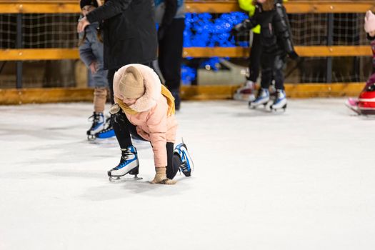
[[[119,82],[119,91],[128,99],[139,99],[144,94],[144,77],[134,66],[126,68]]]

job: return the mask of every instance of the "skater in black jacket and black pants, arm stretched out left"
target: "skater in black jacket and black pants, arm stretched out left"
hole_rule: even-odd
[[[283,67],[286,55],[298,59],[291,41],[288,16],[281,0],[256,0],[256,11],[251,19],[246,19],[234,27],[234,32],[246,31],[261,26],[261,89],[254,101],[249,101],[250,108],[266,105],[269,102],[269,85],[275,80],[276,100],[271,109],[286,108]]]

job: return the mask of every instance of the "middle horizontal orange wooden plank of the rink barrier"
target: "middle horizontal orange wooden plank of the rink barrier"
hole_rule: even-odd
[[[300,56],[371,56],[370,46],[296,46]],[[246,58],[246,47],[190,47],[184,48],[184,57]],[[78,49],[0,49],[0,61],[79,59]]]

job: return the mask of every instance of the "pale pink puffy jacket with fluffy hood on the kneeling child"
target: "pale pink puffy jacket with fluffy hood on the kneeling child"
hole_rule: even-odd
[[[166,166],[166,141],[174,143],[176,139],[177,122],[174,114],[167,117],[168,104],[161,94],[161,82],[153,69],[141,64],[128,64],[123,66],[114,75],[114,96],[121,99],[119,94],[120,77],[127,67],[134,66],[144,76],[146,91],[136,103],[129,106],[138,114],[126,114],[131,124],[136,126],[136,131],[142,138],[151,142],[154,151],[156,167]]]

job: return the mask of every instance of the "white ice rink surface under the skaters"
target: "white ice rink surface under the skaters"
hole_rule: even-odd
[[[0,249],[374,249],[375,119],[344,99],[238,101],[176,115],[195,171],[113,184],[114,139],[86,140],[91,104],[0,106]]]

